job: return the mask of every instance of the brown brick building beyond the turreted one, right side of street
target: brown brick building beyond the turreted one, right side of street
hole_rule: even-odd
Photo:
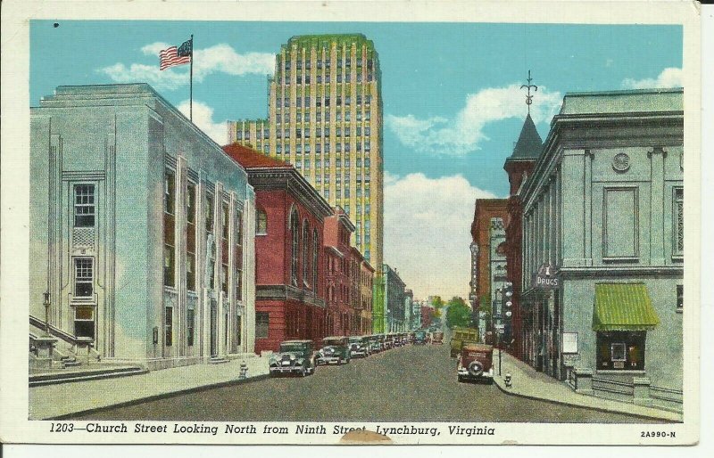
[[[495,272],[492,273],[491,258],[495,250],[492,249],[491,228],[492,221],[502,221],[507,215],[506,212],[507,200],[505,199],[477,199],[474,219],[471,223],[471,256],[476,257],[476,262],[471,263],[471,289],[475,292],[477,300],[477,317],[476,323],[480,335],[485,335],[486,331],[490,331],[493,324],[494,316],[494,297],[495,290],[492,290],[491,285],[494,281]],[[490,310],[489,313],[484,312]]]

